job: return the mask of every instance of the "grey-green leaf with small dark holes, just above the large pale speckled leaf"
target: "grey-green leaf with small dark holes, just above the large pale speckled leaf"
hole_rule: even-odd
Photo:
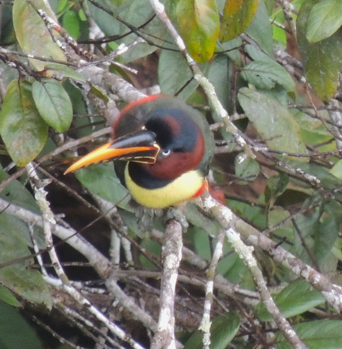
[[[280,64],[273,60],[254,61],[242,69],[242,79],[255,87],[272,89],[276,83],[282,85],[286,91],[293,91],[295,84],[291,75]]]

